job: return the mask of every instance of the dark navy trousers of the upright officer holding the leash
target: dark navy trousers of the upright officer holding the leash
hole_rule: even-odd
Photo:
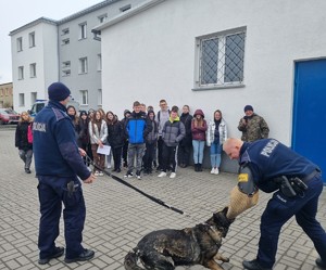
[[[85,201],[80,181],[75,178],[38,177],[38,195],[40,203],[40,224],[38,236],[39,258],[50,257],[55,248],[59,235],[59,221],[64,204],[64,236],[66,244],[65,257],[71,259],[83,253],[83,229],[86,216]],[[67,192],[67,183],[74,180],[75,192]]]

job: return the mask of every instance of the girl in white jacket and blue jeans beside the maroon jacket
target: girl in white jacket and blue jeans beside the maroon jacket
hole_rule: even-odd
[[[222,145],[227,139],[226,123],[222,117],[222,112],[216,110],[214,112],[213,120],[210,121],[206,131],[206,144],[211,147],[211,173],[220,173]]]

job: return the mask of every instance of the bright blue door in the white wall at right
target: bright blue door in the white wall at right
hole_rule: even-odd
[[[326,60],[298,62],[292,149],[317,164],[326,181]]]

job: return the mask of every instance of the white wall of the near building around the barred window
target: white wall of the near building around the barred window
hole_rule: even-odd
[[[222,110],[229,136],[251,104],[271,137],[290,144],[294,61],[326,56],[326,1],[166,0],[101,29],[103,107],[118,116],[135,100],[189,104],[212,118]],[[196,37],[247,27],[244,87],[193,91]]]

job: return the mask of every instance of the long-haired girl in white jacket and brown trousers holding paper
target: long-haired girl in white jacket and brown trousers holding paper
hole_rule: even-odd
[[[105,155],[98,154],[98,147],[103,147],[106,142],[108,126],[105,120],[102,118],[101,112],[97,111],[95,113],[92,120],[89,123],[88,130],[93,162],[103,170],[105,165]],[[102,170],[95,168],[95,176],[102,177]]]

